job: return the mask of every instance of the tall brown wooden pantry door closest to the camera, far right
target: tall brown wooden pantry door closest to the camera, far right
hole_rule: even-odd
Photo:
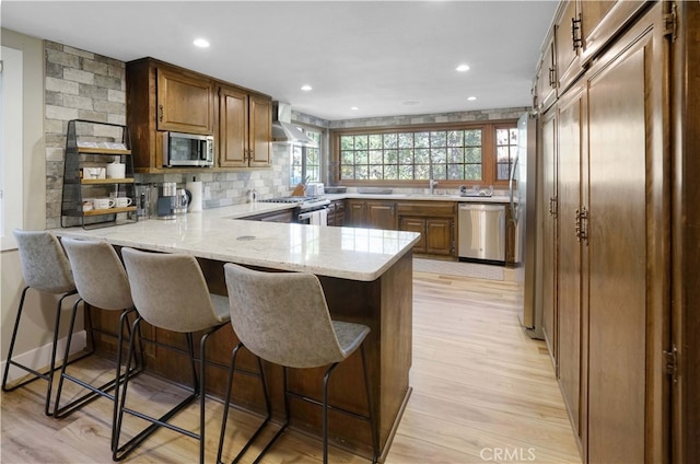
[[[661,4],[588,81],[588,461],[662,462],[667,140]],[[561,170],[560,170],[561,173]],[[651,257],[651,258],[650,258]]]

